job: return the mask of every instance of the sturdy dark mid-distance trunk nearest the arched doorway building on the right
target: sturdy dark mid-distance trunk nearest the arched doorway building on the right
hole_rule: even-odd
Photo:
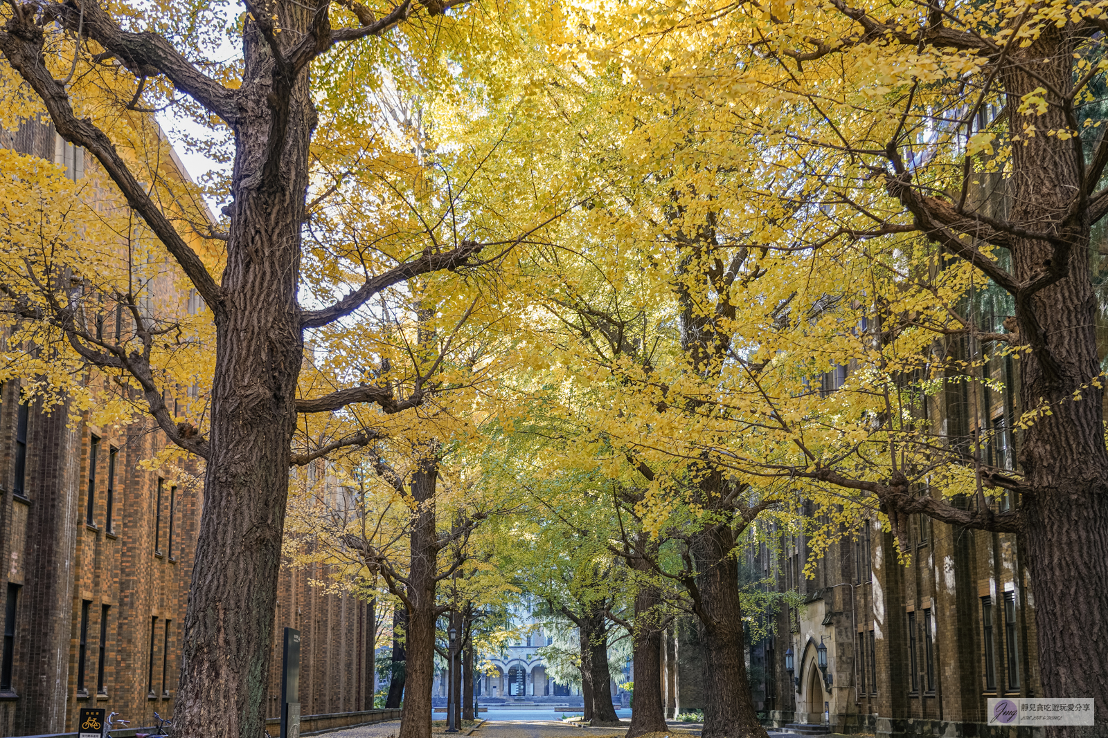
[[[697,615],[704,623],[704,738],[766,738],[750,699],[745,658],[739,567],[731,553],[735,531],[727,523],[693,536]]]

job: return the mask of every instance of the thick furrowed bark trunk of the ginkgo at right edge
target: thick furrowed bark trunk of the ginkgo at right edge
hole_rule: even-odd
[[[1001,72],[1008,105],[1044,84],[1067,94],[1073,89],[1076,39],[1049,27]],[[1049,58],[1049,63],[1044,63]],[[1034,74],[1033,74],[1034,72]],[[1016,110],[1013,107],[1012,110]],[[1047,131],[1069,124],[1050,105],[1032,116]],[[1081,163],[1073,142],[1025,136],[1012,147],[1012,211],[1007,220],[1030,230],[1059,221],[1081,187]],[[1020,438],[1019,465],[1029,490],[1023,492],[1022,548],[1035,591],[1038,661],[1046,697],[1094,697],[1101,734],[1108,732],[1108,451],[1104,435],[1104,389],[1097,353],[1097,298],[1088,253],[1088,212],[1063,224],[1069,242],[1066,277],[1026,298],[1016,295],[1019,343],[1032,351],[1019,358],[1019,402],[1026,413],[1049,403]],[[1012,269],[1027,283],[1057,266],[1053,243],[1015,238]],[[1079,399],[1075,399],[1075,394]],[[1022,595],[1020,595],[1022,596]],[[1077,735],[1081,728],[1054,728]],[[1086,729],[1087,730],[1087,729]]]

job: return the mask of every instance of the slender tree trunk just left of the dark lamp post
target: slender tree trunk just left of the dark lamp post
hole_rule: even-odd
[[[404,678],[404,710],[400,738],[430,738],[431,690],[434,686],[435,574],[439,540],[435,531],[434,489],[439,476],[432,449],[418,461],[412,474],[411,493],[416,502],[411,527],[411,563],[408,568],[408,641]]]

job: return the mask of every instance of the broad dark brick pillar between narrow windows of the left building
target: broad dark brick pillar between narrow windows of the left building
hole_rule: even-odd
[[[31,505],[12,679],[20,696],[18,735],[63,731],[69,692],[80,434],[66,427],[69,402],[50,415],[41,410],[35,403],[28,428],[25,490]]]

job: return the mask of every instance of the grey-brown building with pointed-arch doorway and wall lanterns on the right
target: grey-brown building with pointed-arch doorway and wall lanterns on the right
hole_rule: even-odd
[[[983,355],[979,345],[950,349]],[[1012,469],[1017,438],[1009,419],[1018,405],[1013,360],[989,361],[983,372],[1006,388],[951,377],[919,412],[943,436],[968,439],[981,430],[989,438],[982,448],[986,461]],[[828,391],[842,384],[841,374]],[[1003,496],[991,503],[1006,510],[1013,502]],[[832,730],[879,736],[987,736],[988,697],[1038,694],[1033,586],[1016,537],[924,516],[912,517],[910,532],[904,565],[893,533],[871,518],[817,559],[814,579],[802,573],[812,555],[804,533],[779,539],[778,551],[750,549],[748,565],[804,600],[778,616],[771,638],[751,648],[751,664],[763,675],[756,700],[774,724],[829,721]]]

